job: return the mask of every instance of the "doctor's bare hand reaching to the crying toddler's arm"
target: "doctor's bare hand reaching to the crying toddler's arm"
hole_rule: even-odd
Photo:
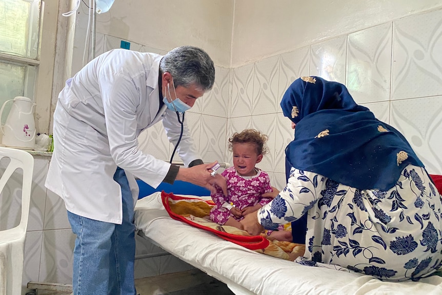
[[[216,187],[218,186],[223,190],[225,196],[227,196],[227,183],[224,176],[215,174],[210,175],[210,169],[218,162],[211,164],[201,164],[190,168],[179,168],[176,180],[187,181],[210,190],[211,193],[216,193]]]

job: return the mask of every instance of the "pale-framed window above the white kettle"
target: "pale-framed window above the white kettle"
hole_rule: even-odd
[[[0,107],[15,96],[35,101],[41,11],[41,0],[0,0]]]

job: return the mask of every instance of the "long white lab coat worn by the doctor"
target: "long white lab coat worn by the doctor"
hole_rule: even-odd
[[[159,110],[158,72],[163,56],[125,49],[108,51],[66,82],[54,113],[54,153],[45,186],[83,217],[122,223],[122,198],[113,180],[116,167],[126,172],[134,198],[133,175],[157,187],[170,164],[137,147],[141,131],[163,120],[176,143],[176,113]],[[201,159],[187,124],[177,152],[185,166]]]

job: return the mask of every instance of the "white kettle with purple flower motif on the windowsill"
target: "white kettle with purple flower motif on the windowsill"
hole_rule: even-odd
[[[12,103],[4,126],[1,126],[5,105]],[[7,147],[33,149],[35,145],[35,104],[24,96],[16,96],[6,101],[0,110],[0,129],[3,133],[2,144]]]

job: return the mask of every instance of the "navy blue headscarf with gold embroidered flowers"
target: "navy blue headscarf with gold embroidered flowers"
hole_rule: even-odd
[[[357,105],[347,88],[320,77],[302,77],[281,101],[296,123],[286,148],[292,167],[358,189],[392,188],[409,164],[424,167],[405,137]]]

